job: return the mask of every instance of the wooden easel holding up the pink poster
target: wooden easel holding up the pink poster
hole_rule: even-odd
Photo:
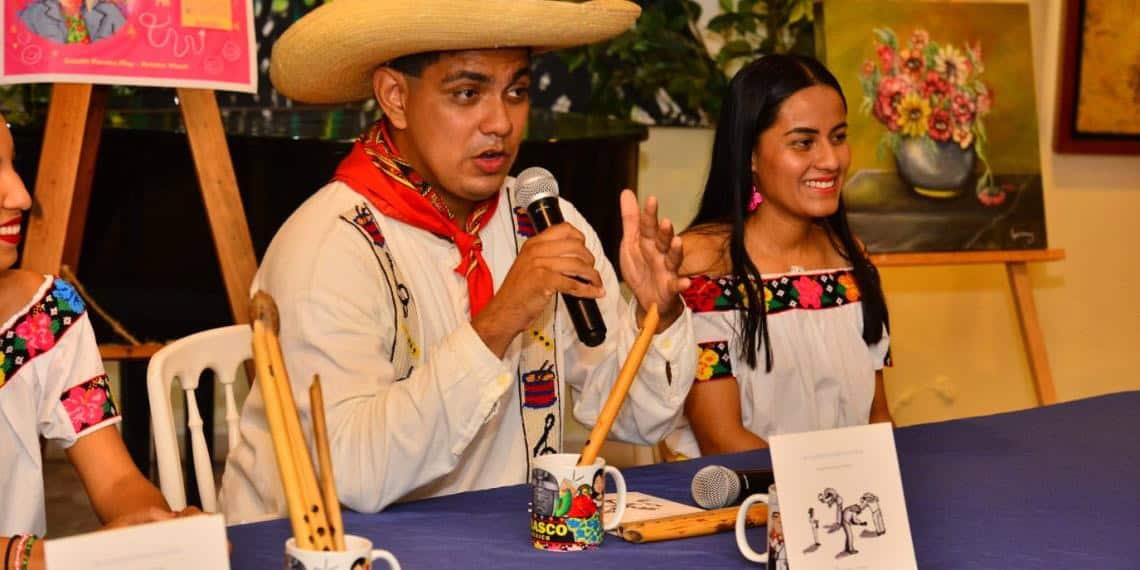
[[[178,89],[182,121],[194,155],[198,186],[221,264],[235,323],[249,321],[250,283],[256,270],[253,242],[237,192],[221,113],[212,90]],[[79,263],[91,196],[96,156],[107,108],[107,87],[56,83],[51,89],[43,148],[35,177],[35,204],[24,244],[23,267],[56,275]],[[162,344],[105,344],[104,359],[145,359]]]

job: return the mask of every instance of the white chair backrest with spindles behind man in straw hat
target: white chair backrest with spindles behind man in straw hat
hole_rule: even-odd
[[[234,398],[234,380],[238,366],[252,358],[249,325],[233,325],[203,331],[179,339],[162,348],[150,358],[147,366],[147,393],[150,400],[150,423],[154,430],[155,457],[158,463],[158,483],[162,495],[173,510],[186,508],[186,487],[182,481],[182,462],[178,445],[178,430],[171,405],[174,378],[186,394],[186,426],[190,433],[190,456],[197,480],[202,508],[207,513],[218,512],[218,492],[214,487],[213,464],[202,432],[202,415],[198,413],[194,391],[198,377],[206,369],[213,370],[226,398],[226,425],[229,448],[237,446],[237,402]]]

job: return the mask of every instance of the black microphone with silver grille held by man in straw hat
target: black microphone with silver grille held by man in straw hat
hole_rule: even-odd
[[[545,231],[555,223],[565,221],[559,207],[559,182],[544,168],[531,166],[515,178],[514,201],[527,207],[536,231]],[[605,321],[597,310],[597,301],[562,293],[567,312],[573,323],[578,339],[587,347],[596,347],[605,340]]]

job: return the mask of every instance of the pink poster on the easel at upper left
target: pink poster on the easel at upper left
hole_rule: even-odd
[[[251,0],[2,0],[0,83],[256,92]]]

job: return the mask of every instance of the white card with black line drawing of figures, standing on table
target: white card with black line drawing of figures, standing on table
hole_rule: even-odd
[[[918,569],[890,424],[772,435],[768,445],[783,568]]]

